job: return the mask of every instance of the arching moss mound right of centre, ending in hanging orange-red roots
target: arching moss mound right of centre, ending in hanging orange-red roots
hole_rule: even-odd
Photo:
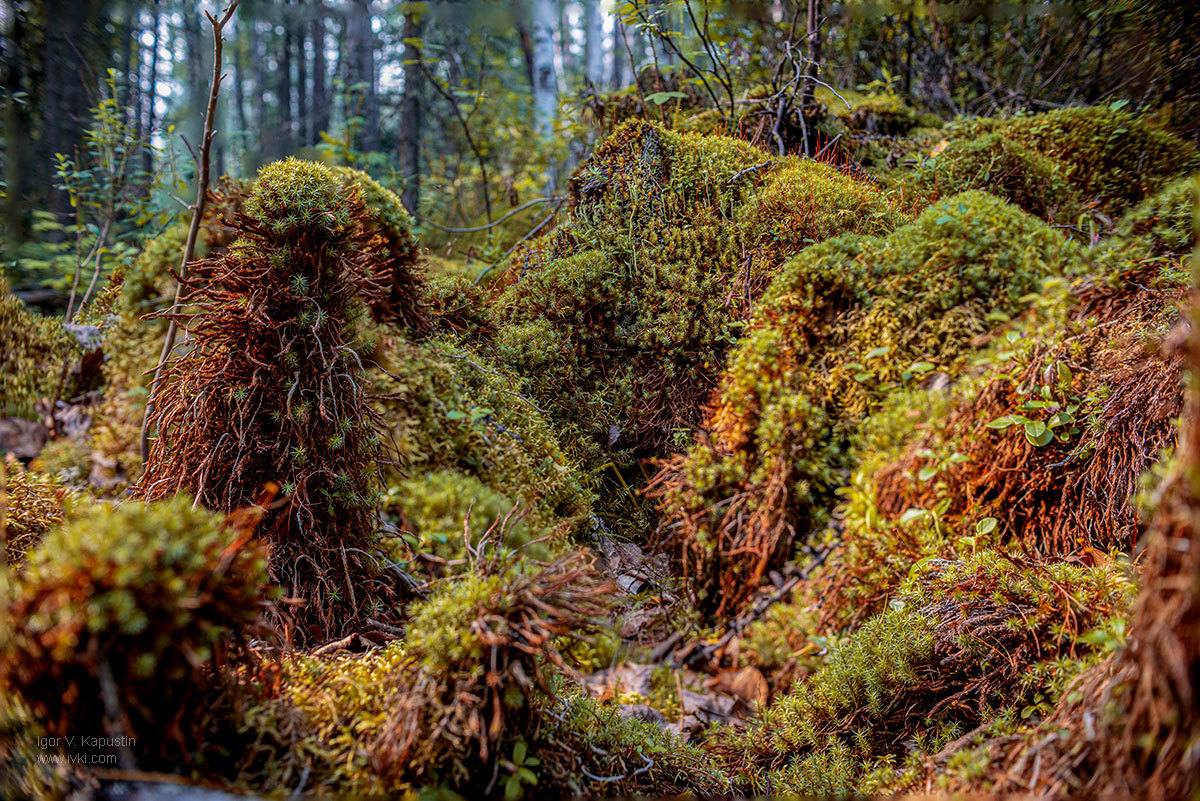
[[[959,372],[974,337],[1076,255],[1045,223],[968,192],[884,239],[839,236],[790,261],[703,434],[656,477],[664,530],[703,604],[737,608],[823,524],[851,435],[882,397]]]

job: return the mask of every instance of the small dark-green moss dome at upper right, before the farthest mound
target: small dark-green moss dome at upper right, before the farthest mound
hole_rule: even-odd
[[[1066,167],[1002,133],[954,140],[917,170],[912,185],[935,197],[979,189],[1046,221],[1074,222],[1081,204]]]

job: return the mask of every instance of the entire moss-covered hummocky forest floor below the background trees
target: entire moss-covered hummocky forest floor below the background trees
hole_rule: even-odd
[[[287,159],[0,288],[6,797],[1195,793],[1200,153],[692,100],[481,281]]]

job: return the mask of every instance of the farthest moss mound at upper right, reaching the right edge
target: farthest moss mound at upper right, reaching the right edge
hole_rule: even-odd
[[[1127,112],[1067,108],[1031,116],[958,122],[952,139],[997,133],[1061,162],[1085,199],[1110,213],[1157,192],[1166,181],[1200,168],[1195,146]]]

